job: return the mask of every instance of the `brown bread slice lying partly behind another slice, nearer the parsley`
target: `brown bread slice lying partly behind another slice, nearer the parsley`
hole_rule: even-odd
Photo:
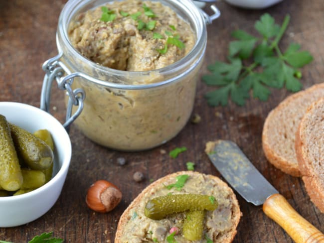
[[[324,97],[324,83],[295,93],[273,109],[264,123],[262,147],[267,159],[292,176],[301,176],[295,152],[299,122],[307,108],[321,97]]]

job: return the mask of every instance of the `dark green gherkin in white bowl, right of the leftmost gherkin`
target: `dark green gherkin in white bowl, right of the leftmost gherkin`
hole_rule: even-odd
[[[9,125],[17,154],[24,163],[34,170],[49,168],[53,163],[52,149],[43,140],[30,132],[14,124]]]

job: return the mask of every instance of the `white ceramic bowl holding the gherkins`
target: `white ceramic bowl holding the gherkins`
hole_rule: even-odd
[[[53,176],[49,182],[26,194],[0,197],[0,227],[13,227],[41,217],[54,205],[62,191],[70,165],[71,141],[62,124],[39,108],[0,102],[0,114],[8,122],[30,132],[48,129],[55,145]]]

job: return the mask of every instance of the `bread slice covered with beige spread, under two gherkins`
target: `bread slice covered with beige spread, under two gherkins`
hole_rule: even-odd
[[[179,175],[189,175],[181,191],[165,186],[176,182]],[[174,236],[177,243],[188,243],[181,234],[184,213],[167,216],[162,220],[152,220],[144,215],[146,203],[157,196],[181,193],[212,195],[218,202],[214,211],[206,211],[204,237],[195,243],[206,242],[205,236],[214,243],[230,243],[236,235],[241,211],[235,194],[218,177],[193,171],[180,171],[166,175],[145,188],[122,214],[115,236],[115,243],[166,242],[172,227],[178,227]]]

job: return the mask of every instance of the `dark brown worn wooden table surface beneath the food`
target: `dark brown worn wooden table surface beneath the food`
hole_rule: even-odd
[[[57,54],[55,32],[65,0],[0,0],[0,101],[12,101],[39,107],[43,80],[42,63]],[[254,22],[269,12],[281,23],[289,13],[291,21],[281,41],[282,47],[298,42],[309,50],[314,61],[302,69],[304,89],[323,82],[324,77],[324,4],[322,0],[284,0],[265,10],[246,10],[218,1],[221,17],[208,25],[208,46],[200,75],[216,59],[224,61],[231,31],[237,28],[254,31]],[[210,13],[209,8],[207,11]],[[41,218],[19,227],[1,228],[0,240],[23,243],[43,232],[54,232],[66,242],[114,242],[119,217],[130,202],[147,186],[168,173],[185,170],[187,161],[195,170],[220,176],[204,154],[204,144],[217,138],[235,141],[257,169],[284,195],[289,203],[320,231],[324,231],[324,214],[312,204],[300,178],[289,176],[272,166],[264,156],[261,133],[267,114],[291,93],[273,90],[267,102],[249,100],[244,107],[229,104],[212,108],[203,98],[213,88],[200,80],[193,113],[201,116],[199,124],[187,123],[183,130],[166,144],[144,152],[118,152],[87,139],[73,124],[70,129],[72,160],[62,193],[52,209]],[[54,88],[51,114],[63,122],[64,92]],[[55,108],[55,109],[54,109]],[[12,111],[14,112],[14,111]],[[188,151],[176,159],[166,152],[186,146]],[[119,166],[117,158],[127,160]],[[141,171],[145,180],[133,181]],[[88,187],[98,179],[115,183],[123,200],[112,212],[95,213],[87,208]],[[237,195],[243,217],[235,243],[293,242],[276,223],[267,218],[262,207],[247,203]],[[1,217],[1,216],[0,216]]]

